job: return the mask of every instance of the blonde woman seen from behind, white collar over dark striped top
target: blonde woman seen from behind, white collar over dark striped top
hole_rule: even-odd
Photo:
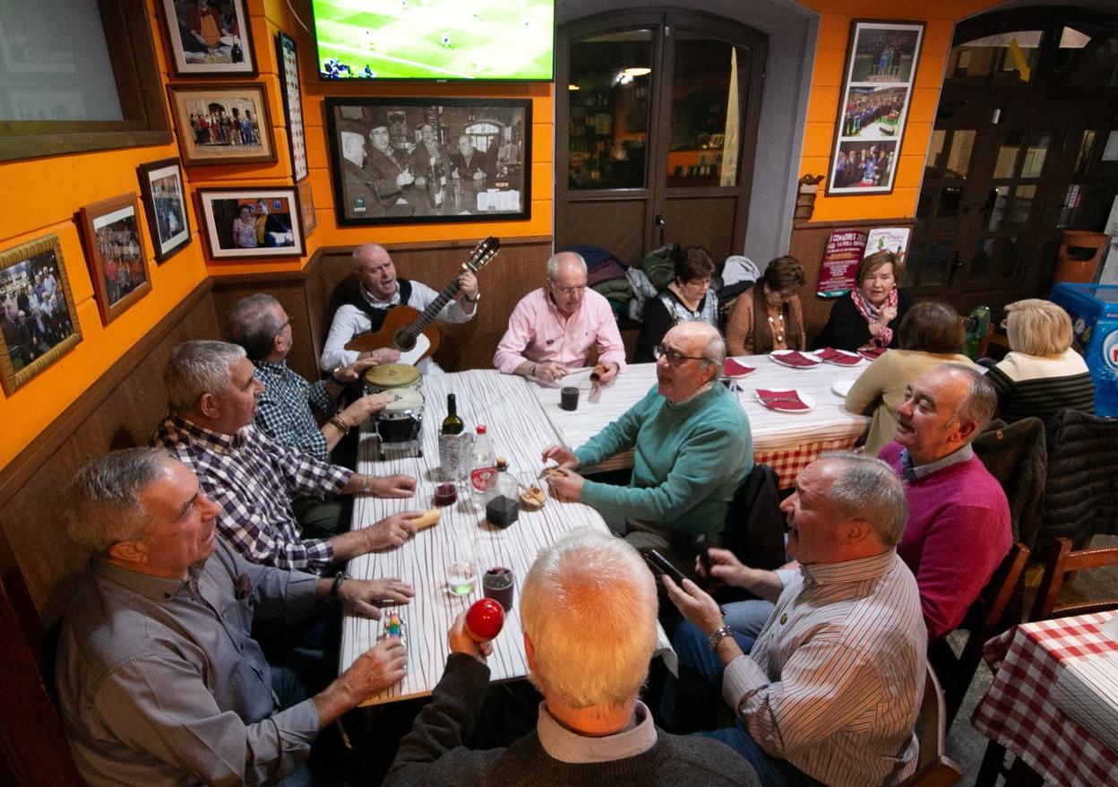
[[[986,376],[997,390],[998,417],[1012,424],[1064,408],[1095,413],[1095,383],[1071,349],[1068,312],[1040,298],[1011,303],[1005,312],[1010,352]]]

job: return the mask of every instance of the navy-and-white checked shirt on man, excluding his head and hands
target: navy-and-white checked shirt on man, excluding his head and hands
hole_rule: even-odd
[[[352,471],[320,462],[248,425],[233,435],[169,416],[152,445],[169,448],[198,475],[202,493],[221,506],[218,530],[248,560],[321,573],[334,550],[323,539],[300,539],[291,495],[337,494]]]

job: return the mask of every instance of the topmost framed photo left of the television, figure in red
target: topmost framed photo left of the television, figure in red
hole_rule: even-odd
[[[158,0],[178,76],[256,76],[247,0]]]

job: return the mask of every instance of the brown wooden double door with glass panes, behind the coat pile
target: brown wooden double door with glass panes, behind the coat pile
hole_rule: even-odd
[[[664,243],[745,245],[766,38],[700,13],[608,13],[559,31],[556,247],[627,263]]]

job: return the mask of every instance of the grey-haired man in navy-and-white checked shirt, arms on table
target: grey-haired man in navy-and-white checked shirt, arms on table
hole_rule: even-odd
[[[163,380],[170,415],[153,445],[169,448],[198,475],[221,511],[217,527],[245,558],[285,569],[323,573],[377,549],[398,547],[415,533],[421,512],[392,514],[370,528],[329,538],[302,538],[292,495],[410,497],[415,478],[383,478],[321,462],[253,426],[264,387],[237,344],[191,341],[171,352]],[[344,580],[344,573],[338,575]]]

